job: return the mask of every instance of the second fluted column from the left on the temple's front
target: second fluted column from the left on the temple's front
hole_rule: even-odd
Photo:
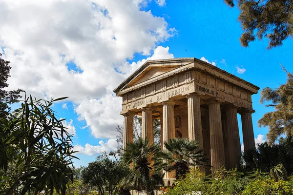
[[[152,109],[145,107],[142,111],[142,138],[148,139],[149,145],[154,143]]]

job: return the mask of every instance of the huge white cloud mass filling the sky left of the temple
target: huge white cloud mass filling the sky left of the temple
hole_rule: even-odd
[[[11,61],[9,89],[21,88],[37,98],[69,96],[94,137],[114,138],[123,118],[122,99],[113,89],[147,59],[173,58],[168,47],[158,44],[175,29],[142,9],[147,2],[1,0],[0,48]],[[128,63],[136,53],[146,58]],[[65,125],[75,134],[71,121]],[[110,140],[100,144],[107,148]],[[85,151],[103,152],[103,147],[85,145],[81,151],[92,154]]]

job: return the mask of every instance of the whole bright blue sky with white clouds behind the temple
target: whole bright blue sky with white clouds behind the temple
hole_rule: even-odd
[[[70,97],[54,110],[75,131],[73,144],[82,150],[76,166],[115,148],[115,126],[123,118],[121,99],[112,90],[146,59],[204,57],[261,89],[285,83],[280,64],[293,72],[292,39],[271,50],[267,39],[242,47],[239,10],[223,1],[137,2],[0,2],[0,47],[12,66],[9,89],[38,98]],[[252,96],[255,137],[268,132],[257,120],[271,111],[259,98],[260,93]]]

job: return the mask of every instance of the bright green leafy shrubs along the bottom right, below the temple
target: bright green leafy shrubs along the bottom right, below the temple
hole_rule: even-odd
[[[269,174],[258,171],[244,176],[236,170],[221,169],[212,178],[192,170],[175,185],[161,190],[165,195],[194,195],[199,191],[201,195],[293,195],[293,176],[276,181]]]

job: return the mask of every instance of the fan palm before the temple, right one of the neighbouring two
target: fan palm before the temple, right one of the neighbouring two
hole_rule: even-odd
[[[188,138],[174,138],[164,143],[166,150],[160,152],[162,166],[166,171],[175,170],[176,179],[184,177],[189,172],[189,166],[203,166],[207,159],[204,157],[199,143]]]

